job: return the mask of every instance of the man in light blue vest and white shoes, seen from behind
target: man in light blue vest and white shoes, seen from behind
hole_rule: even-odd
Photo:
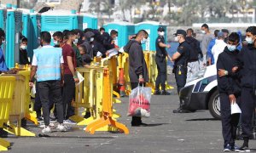
[[[54,48],[49,45],[51,36],[48,31],[41,32],[41,45],[43,48],[34,50],[32,59],[32,71],[30,74],[30,87],[33,86],[33,78],[37,73],[39,97],[43,105],[44,129],[42,133],[50,133],[49,128],[49,94],[52,94],[52,101],[58,115],[59,128],[67,131],[63,123],[63,105],[61,99],[61,82],[63,78],[63,57],[61,48]]]

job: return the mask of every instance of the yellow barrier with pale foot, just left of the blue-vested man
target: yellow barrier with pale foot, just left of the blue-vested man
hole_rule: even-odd
[[[28,101],[26,95],[28,82],[26,82],[26,77],[19,74],[3,76],[12,76],[16,79],[14,100],[11,103],[11,110],[9,112],[9,126],[4,127],[4,130],[17,136],[35,136],[35,133],[31,133],[21,127],[21,120],[26,115],[26,104]],[[14,121],[17,121],[17,125],[12,123]]]

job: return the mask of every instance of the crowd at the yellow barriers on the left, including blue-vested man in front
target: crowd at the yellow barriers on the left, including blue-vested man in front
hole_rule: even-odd
[[[29,85],[33,87],[36,80],[34,109],[38,121],[44,121],[43,133],[51,132],[55,127],[52,122],[59,122],[57,128],[61,131],[67,130],[63,123],[76,123],[70,119],[74,115],[75,84],[79,82],[76,67],[90,67],[94,57],[106,57],[109,49],[118,48],[114,44],[118,32],[111,31],[110,36],[102,30],[56,31],[52,36],[48,31],[40,33],[40,47],[34,49]],[[52,37],[55,46],[50,45]],[[54,106],[54,116],[49,116]]]

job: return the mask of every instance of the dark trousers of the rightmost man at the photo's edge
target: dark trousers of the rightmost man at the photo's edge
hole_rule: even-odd
[[[251,88],[241,88],[241,136],[250,138],[253,134],[252,118],[256,96]]]

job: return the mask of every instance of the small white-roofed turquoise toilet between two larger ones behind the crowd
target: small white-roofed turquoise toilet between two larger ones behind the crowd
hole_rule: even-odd
[[[84,31],[86,28],[97,29],[98,19],[92,14],[79,14],[79,29]]]

